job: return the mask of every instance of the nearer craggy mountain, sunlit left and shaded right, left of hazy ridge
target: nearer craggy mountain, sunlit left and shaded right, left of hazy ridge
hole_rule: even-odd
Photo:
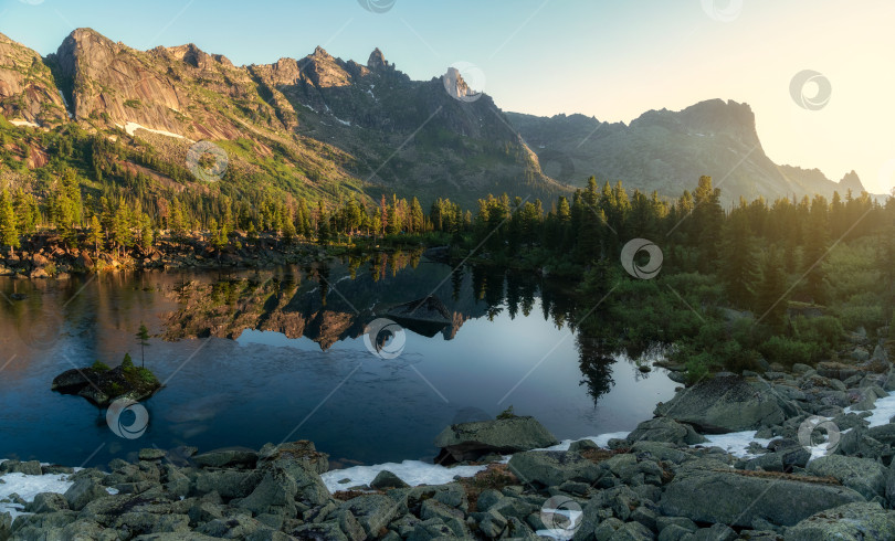
[[[232,169],[285,176],[282,185],[335,182],[377,199],[446,195],[466,206],[487,193],[568,192],[541,173],[489,97],[454,99],[441,78],[411,81],[378,49],[366,65],[317,47],[234,66],[193,44],[138,51],[78,29],[46,59],[0,40],[0,67],[4,117],[70,121],[64,96],[82,128],[151,140],[178,163],[208,139],[238,144],[224,145]],[[286,168],[271,166],[274,157]]]

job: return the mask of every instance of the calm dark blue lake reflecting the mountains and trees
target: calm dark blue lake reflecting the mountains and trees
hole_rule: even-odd
[[[380,256],[313,268],[0,278],[0,458],[103,465],[139,448],[201,450],[312,439],[334,466],[431,459],[435,435],[507,406],[559,438],[633,428],[673,395],[663,370],[588,352],[575,299],[537,278]],[[453,314],[371,354],[382,307],[434,291]],[[18,299],[13,298],[13,294]],[[23,297],[23,298],[21,298]],[[94,360],[116,365],[144,321],[146,365],[165,389],[138,439],[105,411],[50,391]],[[128,414],[125,414],[128,415]],[[124,420],[127,424],[128,418]]]

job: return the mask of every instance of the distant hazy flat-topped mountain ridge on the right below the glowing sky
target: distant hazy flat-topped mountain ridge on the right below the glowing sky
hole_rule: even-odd
[[[629,188],[677,197],[702,174],[720,183],[722,197],[813,195],[863,190],[856,174],[838,183],[819,170],[778,166],[765,155],[747,104],[712,99],[680,112],[651,110],[624,124],[582,115],[552,118],[508,114],[537,152],[547,174],[582,185],[591,174]]]

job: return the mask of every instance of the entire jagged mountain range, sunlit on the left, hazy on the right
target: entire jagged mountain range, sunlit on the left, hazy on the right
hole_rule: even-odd
[[[549,201],[591,174],[667,197],[709,174],[728,201],[863,190],[854,172],[834,182],[773,163],[746,104],[651,110],[630,125],[504,113],[456,70],[412,81],[378,49],[366,64],[317,47],[235,66],[193,44],[138,51],[91,29],[45,57],[0,34],[0,115],[18,129],[76,125],[180,167],[196,141],[210,140],[227,152],[225,182],[251,179],[316,199],[394,192],[472,208],[507,192]],[[32,150],[18,159],[40,167],[33,156],[48,149]],[[175,182],[148,172],[161,185]]]

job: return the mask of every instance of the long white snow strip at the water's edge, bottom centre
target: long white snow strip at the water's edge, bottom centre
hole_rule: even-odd
[[[386,463],[373,466],[354,466],[345,469],[334,469],[327,471],[323,477],[326,488],[330,492],[347,490],[349,487],[368,485],[382,470],[389,470],[397,475],[402,481],[415,487],[419,485],[443,485],[454,480],[455,476],[473,477],[486,469],[485,466],[455,466],[446,468],[438,464],[429,464],[421,460],[404,460],[401,464]],[[349,479],[348,482],[339,482]]]

